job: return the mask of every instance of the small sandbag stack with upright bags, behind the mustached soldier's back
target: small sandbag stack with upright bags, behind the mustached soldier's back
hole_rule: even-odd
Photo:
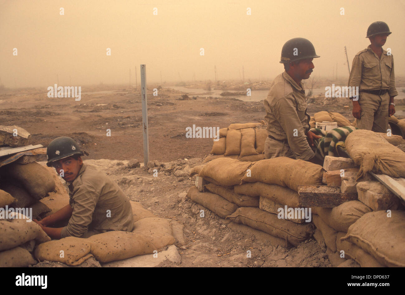
[[[210,156],[204,163],[219,157],[229,157],[240,161],[264,159],[264,141],[267,131],[262,123],[234,123],[219,132],[219,140],[214,138]],[[216,140],[216,141],[215,141]]]

